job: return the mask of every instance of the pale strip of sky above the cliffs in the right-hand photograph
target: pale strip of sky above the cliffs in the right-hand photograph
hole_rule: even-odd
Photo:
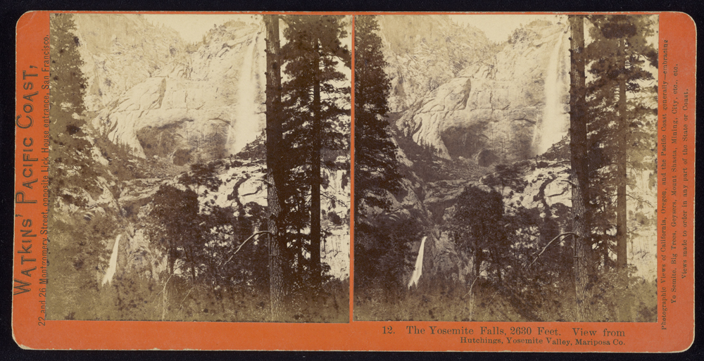
[[[565,15],[450,15],[450,18],[459,25],[472,25],[482,30],[492,42],[505,42],[508,36],[520,25],[526,25],[533,20],[548,20],[552,23],[566,21]]]

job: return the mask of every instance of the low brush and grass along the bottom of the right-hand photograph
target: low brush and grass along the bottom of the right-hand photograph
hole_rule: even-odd
[[[512,281],[521,281],[513,279]],[[614,280],[612,280],[614,281]],[[599,284],[609,284],[607,279]],[[654,281],[631,277],[628,296],[636,300],[632,310],[635,322],[654,322],[657,302]],[[574,316],[574,286],[570,279],[558,280],[555,284],[541,286],[532,291],[533,298],[521,300],[496,286],[478,281],[474,286],[474,310],[470,310],[467,289],[453,281],[427,281],[421,278],[417,288],[399,293],[397,298],[384,300],[373,289],[355,291],[355,321],[444,321],[444,322],[569,322]],[[587,321],[612,322],[616,306],[626,296],[617,289],[608,293],[597,293],[598,311]],[[538,298],[536,298],[538,297]],[[513,298],[513,299],[512,299]],[[523,309],[518,308],[524,302]],[[530,312],[527,312],[530,310]]]

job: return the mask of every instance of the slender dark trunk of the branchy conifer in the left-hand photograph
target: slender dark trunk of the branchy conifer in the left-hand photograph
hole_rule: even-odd
[[[315,279],[320,267],[320,43],[315,40],[315,82],[313,82],[313,159],[310,160],[310,270]]]

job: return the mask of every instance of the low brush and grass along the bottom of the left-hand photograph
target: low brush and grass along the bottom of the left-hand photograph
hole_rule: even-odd
[[[167,281],[168,280],[168,281]],[[270,319],[268,290],[191,283],[172,277],[155,281],[135,272],[116,275],[92,291],[91,302],[70,305],[67,319],[205,322],[348,322],[349,283],[333,280],[318,295],[291,293],[282,317]]]

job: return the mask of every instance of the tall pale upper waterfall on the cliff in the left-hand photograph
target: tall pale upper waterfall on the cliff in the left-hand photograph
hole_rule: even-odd
[[[237,77],[237,104],[234,106],[234,118],[227,129],[227,150],[235,154],[256,139],[262,128],[257,96],[259,93],[258,57],[263,52],[257,49],[261,28],[249,37],[249,44],[243,54],[243,63]],[[263,76],[263,72],[261,74]]]

